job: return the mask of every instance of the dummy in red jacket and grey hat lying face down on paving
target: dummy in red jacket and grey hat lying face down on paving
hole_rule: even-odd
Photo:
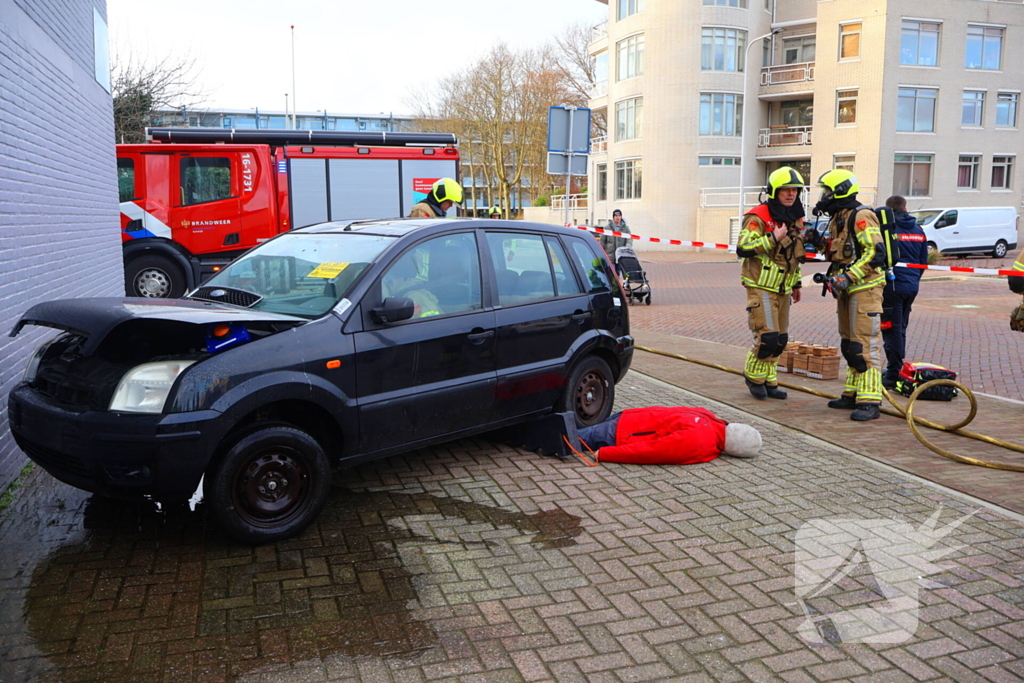
[[[761,433],[702,408],[635,408],[616,413],[578,432],[603,463],[690,465],[720,455],[753,458],[761,450]]]

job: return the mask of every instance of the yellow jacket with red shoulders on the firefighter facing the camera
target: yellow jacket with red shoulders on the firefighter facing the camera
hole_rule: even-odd
[[[800,262],[805,256],[800,233],[804,221],[798,219],[788,226],[786,236],[776,242],[772,230],[781,224],[772,220],[767,204],[743,216],[743,229],[736,245],[736,255],[743,259],[740,269],[743,287],[781,294],[800,288]]]

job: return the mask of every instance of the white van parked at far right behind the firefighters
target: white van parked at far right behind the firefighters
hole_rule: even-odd
[[[1002,258],[1017,248],[1017,210],[1012,206],[920,209],[910,215],[925,228],[929,251]]]

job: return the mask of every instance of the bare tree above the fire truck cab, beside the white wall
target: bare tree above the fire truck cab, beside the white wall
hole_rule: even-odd
[[[191,108],[204,93],[198,85],[196,60],[188,55],[144,59],[137,54],[111,63],[114,134],[117,142],[144,142],[145,127],[156,110]]]

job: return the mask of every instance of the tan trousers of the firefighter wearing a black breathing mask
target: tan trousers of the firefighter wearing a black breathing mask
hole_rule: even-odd
[[[843,395],[856,395],[858,403],[882,402],[882,290],[879,285],[837,299],[847,365]]]

